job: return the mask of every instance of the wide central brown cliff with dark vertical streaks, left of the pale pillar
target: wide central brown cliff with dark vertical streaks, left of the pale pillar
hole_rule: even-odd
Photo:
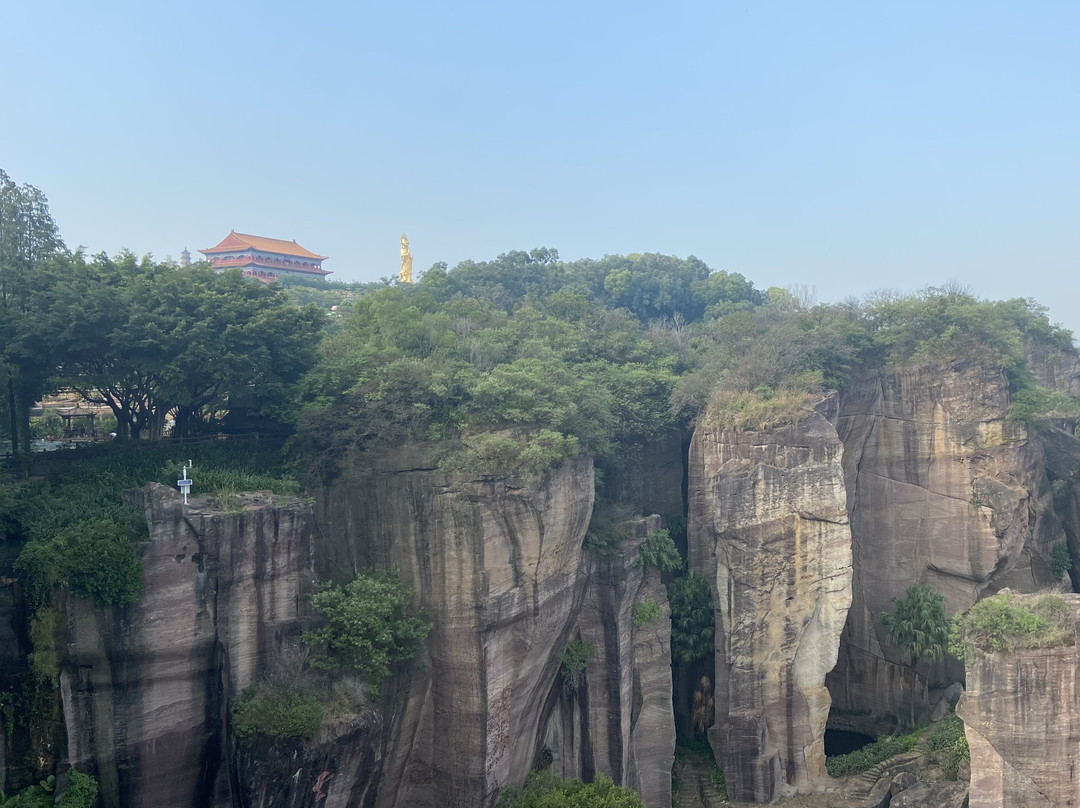
[[[419,446],[342,468],[318,502],[321,571],[396,567],[433,621],[427,670],[390,693],[376,805],[491,805],[545,748],[567,773],[606,771],[640,786],[649,806],[670,805],[665,637],[629,619],[634,598],[666,598],[629,558],[606,578],[583,563],[591,461],[534,483],[451,479]],[[576,638],[603,664],[571,696],[559,670]]]

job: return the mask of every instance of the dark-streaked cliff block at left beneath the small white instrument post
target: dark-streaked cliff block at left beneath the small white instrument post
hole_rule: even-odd
[[[311,507],[252,495],[221,513],[157,484],[125,500],[150,525],[146,587],[126,609],[68,598],[68,756],[98,778],[107,807],[230,806],[229,698],[298,630]]]

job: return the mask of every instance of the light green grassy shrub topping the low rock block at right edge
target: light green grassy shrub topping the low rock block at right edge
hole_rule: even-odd
[[[1071,616],[1059,595],[1037,595],[1022,602],[1010,592],[980,601],[957,615],[949,632],[949,651],[968,662],[1016,648],[1052,648],[1074,636]]]

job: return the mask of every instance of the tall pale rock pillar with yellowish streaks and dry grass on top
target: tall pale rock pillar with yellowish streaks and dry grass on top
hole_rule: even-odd
[[[716,609],[710,740],[733,799],[825,777],[825,674],[852,574],[834,404],[764,432],[699,426],[690,446],[690,565]]]

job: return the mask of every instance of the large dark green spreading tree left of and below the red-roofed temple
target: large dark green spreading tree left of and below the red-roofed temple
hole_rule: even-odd
[[[55,269],[43,329],[62,378],[109,406],[121,439],[159,437],[171,412],[186,435],[238,401],[281,406],[314,362],[325,315],[239,272],[130,253]]]

